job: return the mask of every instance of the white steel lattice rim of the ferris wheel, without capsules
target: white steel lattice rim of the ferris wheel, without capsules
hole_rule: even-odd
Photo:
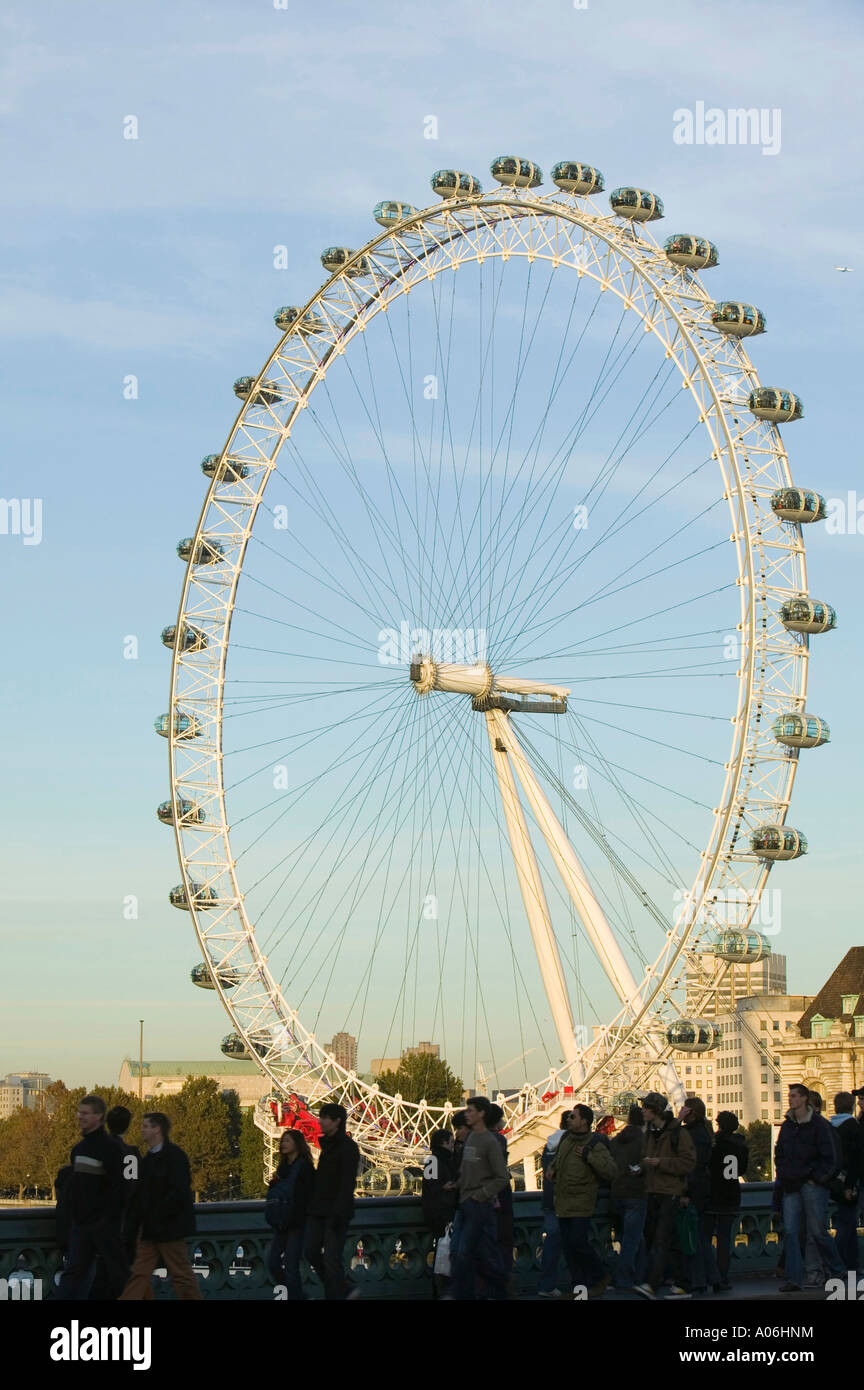
[[[681,1013],[676,997],[685,966],[699,967],[696,948],[717,927],[746,927],[758,905],[770,866],[750,851],[750,833],[765,821],[782,823],[789,806],[797,753],[771,734],[772,719],[801,712],[806,696],[808,638],[785,630],[781,603],[807,595],[801,528],[781,521],[771,493],[790,484],[789,464],[776,427],[753,418],[749,393],[756,370],[735,338],[711,324],[713,299],[686,271],[670,264],[658,243],[639,228],[600,215],[578,196],[533,196],[501,190],[450,200],[418,211],[372,239],[351,263],[308,300],[304,313],[315,331],[292,325],[257,378],[278,388],[278,399],[243,404],[221,460],[242,460],[246,475],[217,471],[204,502],[194,545],[218,541],[218,564],[189,560],[178,614],[182,624],[207,637],[203,651],[175,645],[171,673],[171,790],[174,805],[186,798],[204,812],[200,824],[178,823],[175,833],[194,930],[210,963],[222,1005],[249,1054],[282,1095],[303,1093],[310,1104],[324,1098],[351,1109],[351,1129],[364,1151],[385,1166],[417,1154],[429,1131],[451,1112],[424,1101],[385,1097],[328,1055],[282,997],[256,942],[246,915],[243,887],[232,859],[225,815],[221,721],[225,663],[235,594],[257,507],[276,456],[299,413],[310,403],[329,364],[346,353],[369,320],[422,281],[454,271],[467,261],[525,257],[570,267],[617,296],[642,318],[665,359],[674,361],[690,393],[721,470],[731,516],[731,539],[740,589],[740,670],[725,785],[697,878],[665,944],[649,966],[635,999],[567,1066],[507,1101],[513,1159],[535,1151],[554,1120],[543,1095],[582,1076],[582,1094],[611,1077],[649,1076],[670,1049],[664,1020]],[[365,259],[365,272],[357,274]],[[386,521],[382,518],[386,528]],[[178,738],[174,716],[199,721],[200,737]],[[192,885],[215,895],[208,910],[196,903]],[[208,891],[208,892],[207,892]],[[239,983],[222,987],[218,967],[231,966]],[[717,979],[706,977],[707,999]],[[267,1127],[264,1112],[258,1116]]]

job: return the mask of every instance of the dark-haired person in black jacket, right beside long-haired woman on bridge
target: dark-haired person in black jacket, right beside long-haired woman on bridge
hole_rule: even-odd
[[[354,1215],[360,1150],[346,1133],[343,1105],[322,1105],[321,1156],[306,1223],[306,1258],[324,1284],[325,1298],[357,1298],[344,1277],[344,1236]]]

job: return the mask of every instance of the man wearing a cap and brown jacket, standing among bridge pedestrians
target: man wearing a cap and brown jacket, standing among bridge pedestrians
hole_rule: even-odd
[[[678,1243],[676,1215],[686,1193],[688,1173],[696,1166],[696,1150],[688,1130],[667,1106],[665,1095],[649,1091],[642,1101],[645,1112],[645,1191],[647,1212],[645,1243],[649,1248],[647,1279],[633,1284],[633,1293],[656,1298],[672,1266],[672,1287],[667,1298],[689,1298],[683,1254]]]

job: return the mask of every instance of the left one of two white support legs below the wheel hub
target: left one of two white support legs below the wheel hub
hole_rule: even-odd
[[[501,794],[501,803],[504,806],[504,820],[507,821],[510,848],[513,851],[520,891],[522,894],[522,902],[525,903],[525,913],[528,916],[528,926],[531,927],[531,937],[533,940],[533,948],[540,966],[543,988],[546,991],[546,998],[549,999],[549,1008],[556,1033],[558,1036],[564,1063],[571,1068],[574,1073],[574,1086],[578,1086],[582,1080],[583,1072],[582,1065],[575,1062],[575,1054],[578,1049],[574,1038],[574,1023],[570,1012],[570,997],[564,983],[564,972],[561,969],[561,958],[558,956],[558,945],[554,931],[551,930],[551,917],[549,916],[549,905],[540,881],[540,870],[538,869],[533,848],[528,837],[525,813],[522,812],[518,792],[515,790],[510,759],[506,752],[496,746],[497,742],[501,741],[496,726],[497,716],[500,716],[500,710],[490,709],[486,712],[485,719],[489,744],[492,748],[492,763],[495,766],[495,774]]]

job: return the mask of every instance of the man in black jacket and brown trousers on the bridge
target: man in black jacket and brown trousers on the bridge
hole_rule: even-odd
[[[153,1298],[151,1275],[161,1265],[178,1298],[200,1300],[201,1291],[189,1261],[186,1236],[194,1236],[194,1204],[189,1159],[168,1138],[171,1120],[154,1111],[142,1119],[147,1152],[140,1162],[138,1190],[139,1237],[129,1283],[119,1295],[132,1302]]]

